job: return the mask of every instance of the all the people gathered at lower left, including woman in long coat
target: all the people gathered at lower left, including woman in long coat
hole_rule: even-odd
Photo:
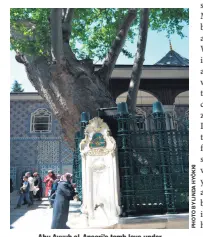
[[[53,207],[51,229],[69,229],[66,225],[69,203],[76,195],[76,185],[72,183],[72,174],[55,175],[52,170],[49,170],[43,182],[46,187],[45,197],[48,197],[50,207]],[[23,201],[24,204],[28,204],[28,207],[33,205],[34,198],[41,200],[42,193],[42,179],[39,174],[35,172],[32,177],[30,172],[26,172],[23,176],[20,196],[15,208],[20,208]]]

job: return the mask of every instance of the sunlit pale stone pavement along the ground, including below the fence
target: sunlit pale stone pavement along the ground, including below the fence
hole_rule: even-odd
[[[52,211],[49,208],[47,198],[42,201],[35,201],[31,207],[22,206],[21,209],[14,209],[18,200],[15,192],[11,194],[10,205],[10,228],[11,229],[33,229],[33,226],[41,230],[51,228]],[[71,229],[86,227],[86,219],[80,215],[80,202],[71,201],[70,212],[67,225]],[[102,223],[102,221],[101,221]],[[94,227],[96,228],[96,227]],[[101,228],[101,227],[100,227]],[[104,228],[104,227],[103,227]],[[107,227],[108,229],[188,229],[189,215],[185,214],[165,214],[147,215],[120,218],[119,223]]]

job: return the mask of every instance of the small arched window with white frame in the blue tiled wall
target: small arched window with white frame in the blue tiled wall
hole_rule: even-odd
[[[37,109],[31,114],[30,132],[51,132],[52,116],[47,109]]]

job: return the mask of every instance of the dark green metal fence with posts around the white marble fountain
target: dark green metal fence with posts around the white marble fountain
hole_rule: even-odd
[[[103,118],[114,131],[118,147],[122,215],[188,211],[188,120],[175,119],[162,111],[148,118],[119,111]],[[81,123],[82,131],[87,123]],[[74,177],[81,199],[82,137],[81,131],[77,133],[74,156]]]

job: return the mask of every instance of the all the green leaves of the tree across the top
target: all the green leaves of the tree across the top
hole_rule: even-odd
[[[102,60],[115,39],[127,11],[128,9],[122,8],[75,9],[70,45],[76,56],[79,59]],[[49,8],[12,8],[10,11],[11,49],[29,55],[50,55],[49,16]],[[184,37],[182,29],[188,23],[188,9],[150,10],[150,28],[156,31],[166,31],[167,36],[177,33]],[[128,32],[127,40],[131,43],[134,42],[138,32],[138,24],[139,11],[137,19]],[[127,57],[135,54],[135,52],[128,52],[126,48],[122,50],[122,53]]]

